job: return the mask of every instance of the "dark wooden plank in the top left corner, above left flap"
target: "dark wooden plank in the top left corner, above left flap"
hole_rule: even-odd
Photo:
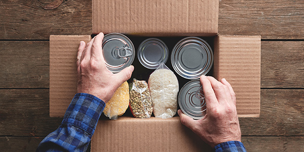
[[[51,34],[92,33],[91,1],[63,1],[56,9],[43,9],[43,6],[51,2],[1,1],[0,39],[48,40]]]

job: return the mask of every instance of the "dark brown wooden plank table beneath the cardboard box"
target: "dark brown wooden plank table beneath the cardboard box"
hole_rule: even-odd
[[[49,35],[91,34],[91,1],[0,1],[0,149],[34,151],[49,117]],[[241,118],[248,151],[304,151],[304,1],[222,0],[219,33],[261,35],[261,113]]]

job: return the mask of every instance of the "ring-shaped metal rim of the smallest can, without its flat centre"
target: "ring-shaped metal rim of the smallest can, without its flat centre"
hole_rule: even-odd
[[[163,50],[161,51],[165,51],[164,52],[164,56],[162,57],[163,60],[161,60],[160,62],[157,62],[156,64],[153,63],[148,63],[147,60],[143,59],[143,49],[145,47],[147,47],[150,44],[158,44],[159,46],[161,46],[161,48],[163,48]],[[144,66],[145,68],[148,69],[156,69],[162,62],[166,63],[168,58],[169,58],[169,49],[167,47],[167,45],[160,39],[156,38],[156,37],[150,37],[146,40],[144,40],[143,42],[140,43],[138,50],[137,50],[137,58],[139,60],[139,62],[141,63],[142,66]]]

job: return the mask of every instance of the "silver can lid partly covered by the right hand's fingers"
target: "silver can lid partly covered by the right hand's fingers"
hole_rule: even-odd
[[[200,80],[187,82],[178,94],[178,104],[185,115],[202,119],[206,115],[206,102]]]

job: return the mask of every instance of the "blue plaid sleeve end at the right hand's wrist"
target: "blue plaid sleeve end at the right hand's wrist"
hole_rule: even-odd
[[[241,151],[246,152],[245,146],[240,141],[227,141],[222,142],[214,147],[215,152],[230,152],[230,151]]]

